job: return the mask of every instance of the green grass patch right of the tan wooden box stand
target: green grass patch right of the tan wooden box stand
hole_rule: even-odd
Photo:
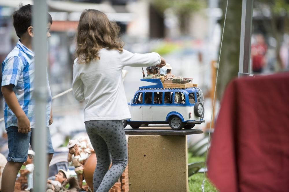
[[[188,163],[205,161],[206,156],[195,156],[193,157],[191,153],[188,153]],[[203,173],[196,173],[189,177],[189,192],[202,191],[201,184],[204,179]],[[218,192],[218,190],[213,186],[207,177],[205,177],[205,192]]]

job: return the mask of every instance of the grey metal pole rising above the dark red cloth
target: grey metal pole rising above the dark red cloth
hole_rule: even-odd
[[[250,75],[252,18],[253,0],[243,0],[238,77]]]

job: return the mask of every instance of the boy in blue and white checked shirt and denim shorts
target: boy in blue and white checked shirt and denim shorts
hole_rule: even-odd
[[[13,25],[20,40],[2,63],[1,91],[4,96],[4,121],[8,135],[8,163],[2,175],[2,191],[13,192],[18,171],[27,160],[29,143],[32,145],[34,121],[34,52],[32,38],[32,6],[21,5],[13,14]],[[47,38],[52,18],[48,14]],[[46,46],[46,45],[43,45]],[[46,77],[47,78],[47,77]],[[53,148],[48,125],[52,123],[51,92],[47,79],[47,154],[48,165]],[[33,146],[33,145],[32,145]]]

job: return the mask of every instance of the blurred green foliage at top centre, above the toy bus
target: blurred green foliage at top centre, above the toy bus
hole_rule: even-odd
[[[205,7],[203,0],[151,0],[161,12],[173,8],[176,14],[187,14]]]

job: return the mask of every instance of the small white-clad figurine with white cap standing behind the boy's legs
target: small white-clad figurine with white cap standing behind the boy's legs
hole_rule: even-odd
[[[27,176],[27,188],[24,191],[30,191],[33,188],[33,157],[35,153],[32,150],[28,150],[27,160],[23,163],[25,165],[25,170],[21,176]]]

